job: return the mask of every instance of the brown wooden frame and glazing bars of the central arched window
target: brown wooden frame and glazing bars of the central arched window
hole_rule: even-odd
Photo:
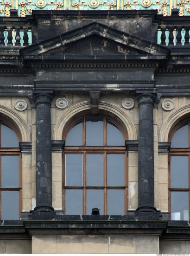
[[[88,118],[102,118],[103,119],[103,146],[86,146],[86,119]],[[106,118],[103,116],[92,116],[87,115],[83,118],[78,118],[73,121],[70,126],[67,128],[63,135],[63,140],[66,140],[67,134],[70,129],[77,124],[77,122],[82,121],[82,146],[65,146],[63,152],[63,209],[66,207],[66,190],[67,189],[81,189],[82,190],[82,211],[83,215],[87,214],[87,190],[88,189],[101,189],[104,190],[104,210],[103,215],[108,214],[108,190],[109,189],[121,189],[124,190],[124,213],[126,213],[127,207],[127,198],[128,198],[128,157],[127,150],[125,146],[107,146],[107,121],[113,123],[121,132],[124,137],[124,141],[127,139],[127,136],[122,127],[120,127],[114,120]],[[123,143],[124,144],[124,143]],[[82,154],[83,161],[83,186],[65,186],[65,155],[66,154]],[[86,185],[86,155],[87,154],[102,154],[103,155],[103,186],[87,186]],[[107,155],[108,154],[122,154],[124,155],[124,186],[107,186]]]

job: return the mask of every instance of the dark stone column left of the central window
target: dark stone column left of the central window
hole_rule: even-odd
[[[36,101],[36,207],[53,211],[51,163],[51,94],[40,93]]]

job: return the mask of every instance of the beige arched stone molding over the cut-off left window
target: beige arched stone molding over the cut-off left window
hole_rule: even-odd
[[[12,109],[7,108],[6,106],[0,105],[0,117],[10,121],[15,128],[17,128],[22,141],[31,141],[30,131],[23,119]]]

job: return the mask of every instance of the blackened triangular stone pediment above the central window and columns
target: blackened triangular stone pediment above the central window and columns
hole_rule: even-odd
[[[56,37],[40,41],[21,50],[24,59],[44,56],[152,55],[166,58],[170,49],[97,22]]]

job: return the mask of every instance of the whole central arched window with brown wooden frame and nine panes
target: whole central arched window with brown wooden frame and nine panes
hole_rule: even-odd
[[[127,154],[123,133],[104,117],[76,121],[64,137],[63,209],[67,215],[124,215]]]

